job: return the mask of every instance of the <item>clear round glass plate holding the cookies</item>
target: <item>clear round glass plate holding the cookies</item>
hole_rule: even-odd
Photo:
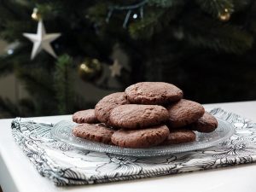
[[[156,156],[181,153],[201,148],[209,148],[224,142],[234,134],[233,125],[227,121],[218,119],[218,128],[215,131],[211,133],[201,133],[195,131],[195,142],[157,146],[153,148],[121,148],[118,146],[91,142],[86,139],[74,137],[72,134],[72,128],[75,125],[76,124],[71,121],[62,120],[53,126],[51,134],[55,139],[81,149],[127,156]]]

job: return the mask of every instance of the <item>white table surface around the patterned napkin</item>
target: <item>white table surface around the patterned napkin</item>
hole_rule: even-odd
[[[256,122],[256,102],[232,102],[204,105],[207,110],[223,108]],[[70,115],[33,118],[55,123],[71,119]],[[11,136],[12,119],[0,119],[0,185],[3,192],[255,192],[256,163],[219,168],[203,172],[183,173],[172,176],[146,178],[133,181],[84,185],[76,187],[55,187],[48,178],[41,177],[32,163],[21,152]]]

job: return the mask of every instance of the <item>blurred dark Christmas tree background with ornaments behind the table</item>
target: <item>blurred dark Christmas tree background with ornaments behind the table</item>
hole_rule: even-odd
[[[74,113],[140,81],[256,99],[256,1],[0,1],[0,118]]]

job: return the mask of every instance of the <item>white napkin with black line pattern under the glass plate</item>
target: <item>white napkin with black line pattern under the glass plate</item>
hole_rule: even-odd
[[[12,133],[38,172],[58,186],[157,177],[256,161],[256,124],[219,108],[211,113],[235,125],[236,133],[230,140],[212,148],[157,157],[80,150],[53,139],[53,125],[20,118],[13,120]]]

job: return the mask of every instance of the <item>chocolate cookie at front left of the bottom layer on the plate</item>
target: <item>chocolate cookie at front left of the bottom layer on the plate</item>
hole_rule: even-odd
[[[72,132],[75,137],[111,144],[114,131],[104,124],[79,124],[73,128]]]

